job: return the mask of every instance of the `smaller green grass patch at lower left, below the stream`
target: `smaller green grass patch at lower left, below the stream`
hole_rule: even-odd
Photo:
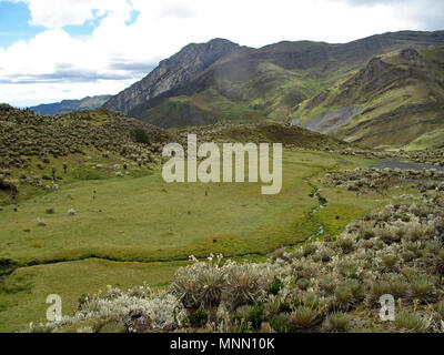
[[[90,258],[84,261],[18,268],[0,288],[0,333],[23,328],[30,322],[46,323],[50,306],[47,296],[62,298],[63,315],[73,314],[81,294],[105,291],[112,284],[127,290],[144,282],[162,287],[183,262],[122,263]]]

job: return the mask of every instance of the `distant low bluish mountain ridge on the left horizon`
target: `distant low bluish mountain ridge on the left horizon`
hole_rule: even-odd
[[[30,108],[39,114],[57,114],[62,112],[73,112],[81,110],[94,110],[101,108],[111,95],[87,97],[81,100],[63,100],[57,103],[44,103]]]

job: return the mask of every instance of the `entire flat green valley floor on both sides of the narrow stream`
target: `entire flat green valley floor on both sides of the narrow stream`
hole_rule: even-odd
[[[304,242],[319,230],[315,221],[324,224],[325,234],[339,234],[390,201],[322,186],[326,171],[371,161],[285,151],[283,162],[278,195],[261,195],[261,183],[167,184],[158,169],[141,178],[67,183],[22,201],[17,211],[3,207],[0,260],[12,261],[9,266],[16,270],[1,284],[0,332],[44,322],[49,294],[60,294],[63,313],[72,314],[81,294],[109,284],[164,286],[189,255],[266,255]],[[315,215],[313,186],[327,199],[327,207]],[[48,209],[54,213],[47,214]],[[75,215],[68,215],[70,209]],[[38,219],[46,225],[38,225]]]

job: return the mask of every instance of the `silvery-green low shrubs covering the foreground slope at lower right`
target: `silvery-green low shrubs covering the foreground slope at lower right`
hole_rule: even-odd
[[[30,332],[444,332],[444,194],[355,220],[334,240],[264,263],[192,258],[168,290],[109,287]],[[394,322],[380,318],[393,295]]]

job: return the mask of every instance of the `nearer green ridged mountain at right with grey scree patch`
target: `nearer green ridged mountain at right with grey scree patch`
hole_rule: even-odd
[[[373,148],[442,144],[444,48],[374,57],[355,74],[303,102],[292,122]]]

